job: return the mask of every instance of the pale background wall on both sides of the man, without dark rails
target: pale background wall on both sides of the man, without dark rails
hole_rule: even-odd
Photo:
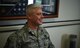
[[[80,19],[80,0],[60,0],[59,17],[44,19],[44,22],[49,21],[64,21]],[[0,21],[0,25],[25,23],[26,20],[11,20]],[[48,24],[50,25],[50,24]],[[79,36],[80,25],[62,26],[46,28],[50,34],[50,38],[55,48],[61,48],[61,40],[64,34],[74,34]],[[0,33],[0,48],[3,48],[7,37],[13,32]]]

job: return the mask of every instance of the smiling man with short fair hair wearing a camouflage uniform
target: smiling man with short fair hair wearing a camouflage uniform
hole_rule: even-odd
[[[27,6],[27,23],[19,31],[11,34],[4,48],[54,48],[48,32],[40,27],[42,9],[39,4]]]

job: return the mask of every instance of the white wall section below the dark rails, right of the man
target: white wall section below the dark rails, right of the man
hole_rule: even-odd
[[[51,41],[54,44],[55,48],[61,48],[61,40],[62,36],[64,34],[74,34],[78,35],[79,34],[79,26],[74,25],[74,26],[64,26],[64,27],[53,27],[53,28],[46,28],[47,31],[50,34]]]

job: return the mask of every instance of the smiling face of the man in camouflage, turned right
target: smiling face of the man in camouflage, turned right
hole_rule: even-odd
[[[43,18],[42,9],[36,8],[33,10],[32,14],[30,16],[30,21],[34,25],[40,25],[40,24],[42,24],[42,18]]]

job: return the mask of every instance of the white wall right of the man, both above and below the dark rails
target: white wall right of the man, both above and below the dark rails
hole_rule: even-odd
[[[80,0],[60,0],[59,3],[59,17],[53,19],[45,19],[46,21],[52,20],[75,20],[80,19]],[[80,25],[64,26],[46,28],[50,34],[51,40],[55,48],[61,48],[61,37],[64,34],[76,34],[80,32]]]

